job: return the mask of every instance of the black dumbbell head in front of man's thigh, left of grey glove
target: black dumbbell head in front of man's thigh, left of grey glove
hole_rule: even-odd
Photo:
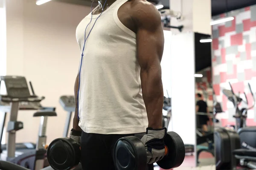
[[[113,158],[117,170],[143,170],[147,165],[145,147],[135,136],[120,138],[115,144]]]

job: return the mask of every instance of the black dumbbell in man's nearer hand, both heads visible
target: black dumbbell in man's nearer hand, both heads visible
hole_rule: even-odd
[[[175,132],[167,132],[165,156],[157,164],[162,169],[179,167],[185,159],[185,146]],[[144,144],[135,136],[120,138],[114,147],[114,163],[117,170],[145,170],[147,154]]]

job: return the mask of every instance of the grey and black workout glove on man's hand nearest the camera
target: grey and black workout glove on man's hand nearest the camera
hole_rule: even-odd
[[[164,137],[166,136],[166,128],[163,129],[152,129],[147,128],[146,134],[142,137],[146,152],[147,152],[147,163],[153,164],[163,159],[165,154]]]

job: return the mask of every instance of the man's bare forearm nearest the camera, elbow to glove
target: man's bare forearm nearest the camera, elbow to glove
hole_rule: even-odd
[[[148,127],[162,128],[163,84],[160,71],[141,73],[142,94],[148,115]]]

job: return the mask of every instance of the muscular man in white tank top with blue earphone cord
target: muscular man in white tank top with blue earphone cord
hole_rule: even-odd
[[[146,0],[100,0],[79,23],[81,49],[70,137],[79,141],[84,170],[114,170],[113,147],[137,136],[148,170],[164,156],[161,18]]]

